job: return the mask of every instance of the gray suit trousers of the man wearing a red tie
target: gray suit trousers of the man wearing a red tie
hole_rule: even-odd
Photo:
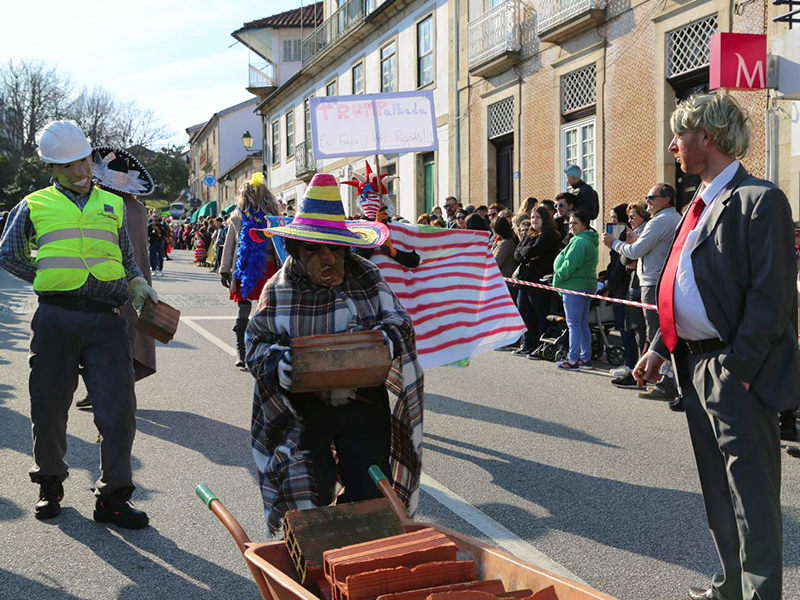
[[[708,525],[722,563],[712,585],[723,600],[779,600],[778,415],[745,390],[718,355],[675,355]]]

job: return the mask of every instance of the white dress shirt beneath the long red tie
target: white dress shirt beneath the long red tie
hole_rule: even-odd
[[[683,246],[680,262],[678,263],[678,272],[675,274],[675,295],[673,296],[675,328],[678,332],[678,337],[683,340],[722,339],[719,331],[708,319],[706,307],[700,297],[700,290],[697,289],[697,281],[694,278],[694,265],[692,265],[692,252],[700,229],[708,220],[711,206],[716,202],[722,190],[731,182],[738,170],[739,161],[735,160],[725,167],[709,185],[700,190],[700,197],[706,206],[700,215],[697,226],[686,238],[686,244]]]

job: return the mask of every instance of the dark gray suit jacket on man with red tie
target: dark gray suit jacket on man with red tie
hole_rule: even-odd
[[[726,344],[719,361],[769,408],[793,408],[800,399],[800,353],[792,326],[797,298],[789,202],[778,187],[740,167],[710,210],[691,256],[708,318]],[[653,350],[669,354],[660,334]]]

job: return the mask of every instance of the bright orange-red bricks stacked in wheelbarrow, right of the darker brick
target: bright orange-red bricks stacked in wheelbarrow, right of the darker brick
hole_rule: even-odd
[[[433,528],[328,550],[323,562],[326,600],[557,600],[552,588],[507,593],[499,579],[477,581],[475,563]]]

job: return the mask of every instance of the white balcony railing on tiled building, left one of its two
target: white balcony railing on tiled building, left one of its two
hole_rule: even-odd
[[[520,0],[505,0],[469,24],[469,68],[519,52]]]

